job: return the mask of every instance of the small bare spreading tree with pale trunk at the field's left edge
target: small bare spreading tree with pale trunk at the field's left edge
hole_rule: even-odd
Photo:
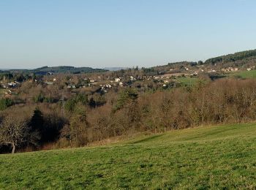
[[[27,118],[4,118],[0,126],[0,145],[11,145],[12,153],[16,147],[27,141],[29,137],[29,125]]]

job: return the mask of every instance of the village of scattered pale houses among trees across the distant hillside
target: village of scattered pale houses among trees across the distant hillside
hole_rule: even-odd
[[[175,88],[179,86],[191,86],[192,83],[208,75],[229,75],[230,73],[241,70],[252,71],[255,66],[241,68],[229,66],[227,68],[215,69],[214,66],[180,66],[180,68],[165,68],[164,71],[158,72],[157,75],[116,75],[111,77],[113,72],[95,73],[94,75],[59,75],[49,72],[48,75],[29,79],[29,83],[44,84],[52,86],[64,81],[67,89],[75,88],[97,88],[97,91],[107,93],[111,88],[124,88],[133,86],[135,88]],[[5,77],[0,82],[0,96],[10,97],[16,94],[17,89],[25,81],[7,80]]]

